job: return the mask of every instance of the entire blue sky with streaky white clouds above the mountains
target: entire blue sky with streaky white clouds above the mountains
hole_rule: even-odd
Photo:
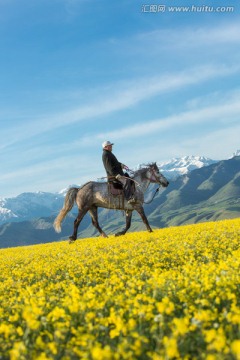
[[[105,176],[104,140],[130,168],[230,157],[240,148],[239,9],[0,0],[0,197]]]

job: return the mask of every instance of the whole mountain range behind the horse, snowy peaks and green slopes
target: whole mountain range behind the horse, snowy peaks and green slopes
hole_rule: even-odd
[[[240,216],[240,153],[229,160],[215,161],[205,157],[187,156],[158,163],[160,171],[170,180],[167,189],[145,211],[153,228],[186,223],[218,220]],[[52,227],[61,209],[66,189],[58,193],[24,193],[15,198],[0,199],[0,247],[52,242],[72,233],[76,208],[63,223],[63,232]],[[146,194],[149,196],[149,193]],[[124,226],[119,211],[99,210],[104,231],[114,233]],[[137,214],[130,231],[144,230]],[[79,237],[97,236],[86,216]]]

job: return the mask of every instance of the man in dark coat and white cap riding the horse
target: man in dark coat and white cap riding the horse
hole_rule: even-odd
[[[123,172],[123,169],[128,170],[128,167],[127,165],[120,163],[112,153],[113,145],[114,144],[110,141],[104,141],[102,143],[102,161],[107,173],[108,181],[117,179],[123,185],[126,200],[129,204],[132,204],[135,202],[135,199],[132,197],[131,181],[127,179],[128,174],[124,174]]]

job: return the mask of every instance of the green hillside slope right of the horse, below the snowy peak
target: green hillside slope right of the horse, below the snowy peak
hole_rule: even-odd
[[[147,209],[147,213],[155,226],[239,217],[240,157],[178,178],[160,194],[155,209]]]

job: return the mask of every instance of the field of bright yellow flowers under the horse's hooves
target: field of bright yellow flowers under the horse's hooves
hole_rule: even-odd
[[[239,360],[239,244],[235,219],[2,249],[0,359]]]

